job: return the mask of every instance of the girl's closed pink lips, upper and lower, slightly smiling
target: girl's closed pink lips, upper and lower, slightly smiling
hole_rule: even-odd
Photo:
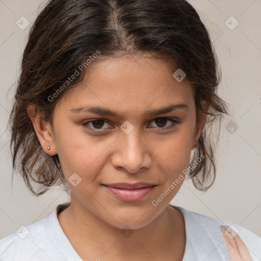
[[[135,184],[115,183],[102,185],[108,192],[124,201],[137,201],[144,198],[155,187],[148,182],[138,182]]]

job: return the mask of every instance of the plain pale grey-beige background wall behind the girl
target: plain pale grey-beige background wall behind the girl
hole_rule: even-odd
[[[10,134],[6,125],[22,51],[29,29],[41,9],[38,7],[44,3],[0,0],[0,239],[15,232],[20,225],[47,217],[59,203],[69,201],[61,188],[54,188],[38,198],[32,196],[18,174],[14,176],[13,187],[11,185]],[[261,2],[191,0],[190,3],[210,30],[222,68],[219,94],[231,105],[232,117],[225,118],[221,129],[213,187],[203,193],[197,191],[191,181],[186,181],[171,203],[239,224],[261,236]],[[21,16],[30,21],[24,30],[16,25]],[[239,22],[233,30],[225,24],[230,16]],[[230,20],[231,27],[235,21]],[[225,128],[229,121],[238,125],[233,134]]]

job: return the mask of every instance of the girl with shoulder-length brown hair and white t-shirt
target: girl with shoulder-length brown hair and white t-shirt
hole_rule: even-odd
[[[22,58],[13,166],[34,195],[62,184],[71,200],[0,241],[1,260],[260,260],[255,233],[169,204],[185,177],[214,181],[219,82],[185,0],[49,1]]]

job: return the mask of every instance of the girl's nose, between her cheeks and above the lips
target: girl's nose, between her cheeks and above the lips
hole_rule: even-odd
[[[136,173],[151,166],[151,151],[141,135],[134,130],[129,134],[122,132],[117,139],[116,147],[111,159],[114,168]]]

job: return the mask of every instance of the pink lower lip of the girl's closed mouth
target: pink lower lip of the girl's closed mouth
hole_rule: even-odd
[[[112,194],[124,201],[137,201],[144,198],[154,187],[145,187],[135,190],[116,189],[108,186],[103,186]]]

